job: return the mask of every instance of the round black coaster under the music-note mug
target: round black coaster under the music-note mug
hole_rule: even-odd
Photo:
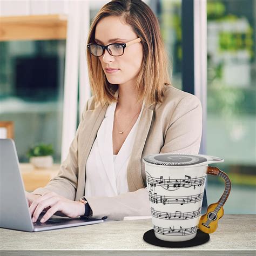
[[[203,231],[197,230],[197,235],[191,240],[182,241],[182,242],[169,242],[160,240],[154,235],[154,230],[149,230],[143,235],[144,241],[148,242],[151,245],[157,245],[161,247],[171,247],[171,248],[179,248],[179,247],[190,247],[205,244],[210,239],[210,235],[204,233]]]

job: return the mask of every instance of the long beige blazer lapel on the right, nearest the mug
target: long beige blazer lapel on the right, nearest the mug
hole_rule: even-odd
[[[142,179],[140,159],[142,157],[142,151],[144,149],[147,134],[150,130],[153,112],[153,104],[145,107],[142,112],[142,117],[139,121],[138,130],[134,139],[131,158],[127,166],[127,182],[130,192],[137,191],[138,189],[145,187]]]

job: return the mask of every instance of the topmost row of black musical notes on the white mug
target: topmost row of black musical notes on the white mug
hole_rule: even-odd
[[[156,186],[161,186],[165,190],[178,190],[180,187],[194,187],[194,190],[196,187],[203,186],[205,184],[206,176],[203,177],[196,177],[191,178],[191,176],[184,176],[184,179],[170,179],[170,176],[168,179],[165,179],[163,176],[160,176],[160,178],[152,177],[148,172],[146,172],[146,181],[147,186],[150,187],[150,190],[155,190]]]

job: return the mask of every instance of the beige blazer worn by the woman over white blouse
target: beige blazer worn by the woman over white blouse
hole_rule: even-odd
[[[79,200],[85,194],[86,160],[96,139],[107,106],[91,97],[82,114],[68,157],[55,178],[33,193],[54,191],[61,196]],[[143,157],[156,153],[198,154],[202,134],[200,100],[187,92],[165,86],[162,103],[145,106],[127,166],[128,193],[114,197],[90,197],[92,218],[120,219],[125,216],[151,215],[146,188]]]

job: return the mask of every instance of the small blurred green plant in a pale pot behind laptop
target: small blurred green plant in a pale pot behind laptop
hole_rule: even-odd
[[[26,156],[29,157],[29,161],[37,168],[49,168],[53,164],[52,154],[54,150],[51,144],[39,143],[33,147],[30,147]]]

